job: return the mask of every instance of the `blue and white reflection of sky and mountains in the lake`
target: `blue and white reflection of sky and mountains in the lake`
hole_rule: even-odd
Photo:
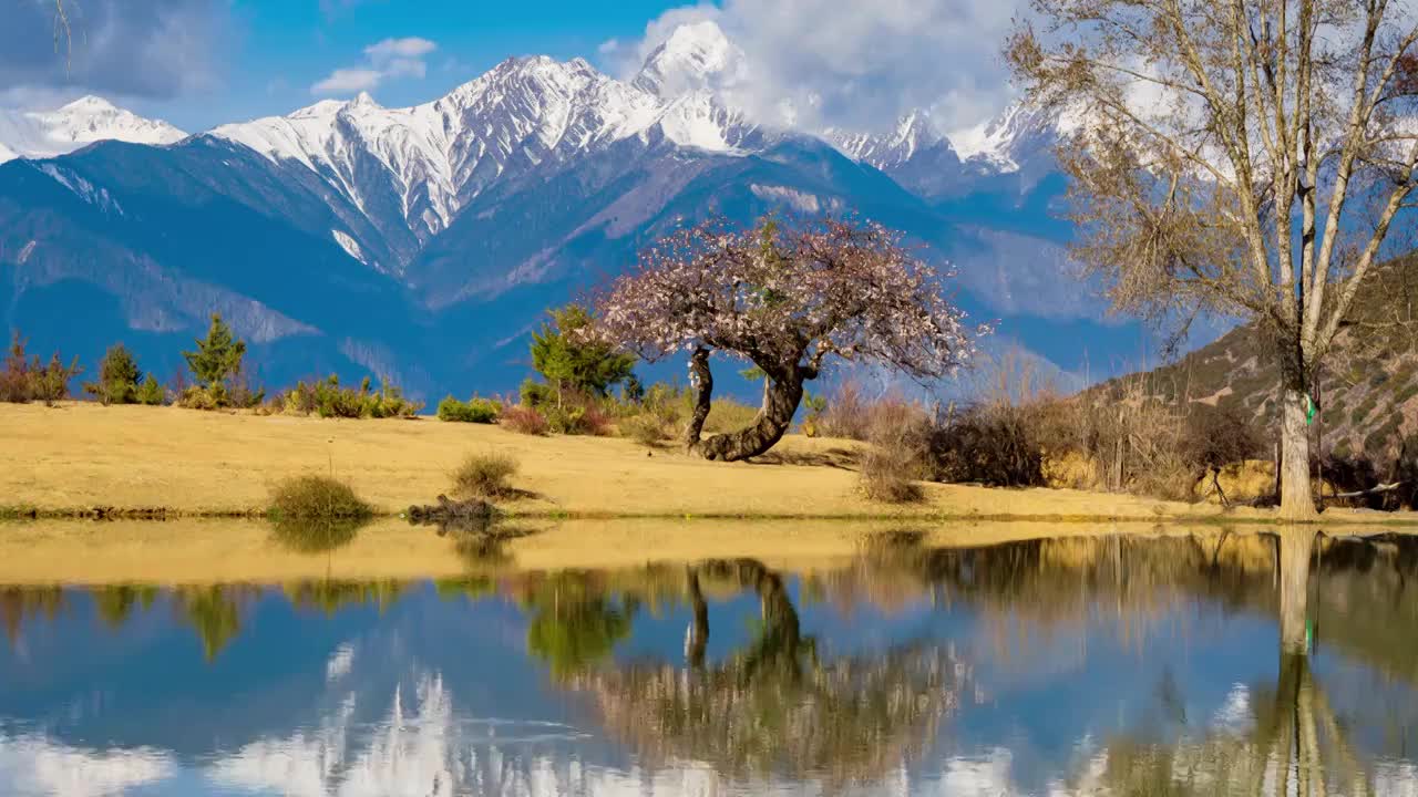
[[[1045,627],[959,594],[879,606],[788,579],[788,596],[822,661],[925,647],[968,662],[925,750],[835,791],[786,771],[651,766],[607,737],[590,693],[529,654],[529,613],[499,596],[411,586],[383,610],[326,614],[248,589],[240,630],[207,661],[174,596],[112,628],[68,590],[65,611],[0,644],[0,794],[1088,794],[1103,787],[1110,740],[1239,746],[1276,689],[1268,600],[1168,593],[1127,617],[1090,598]],[[708,600],[712,668],[752,645],[763,620],[749,589]],[[691,624],[683,601],[641,606],[611,667],[682,668]],[[1402,754],[1418,730],[1412,685],[1323,641],[1310,669],[1370,760],[1371,788],[1418,796]]]

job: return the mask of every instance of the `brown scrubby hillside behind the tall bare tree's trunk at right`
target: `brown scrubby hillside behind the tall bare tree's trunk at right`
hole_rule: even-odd
[[[1314,396],[1326,459],[1367,461],[1387,474],[1405,441],[1407,455],[1418,455],[1418,330],[1395,325],[1411,318],[1411,285],[1418,285],[1418,254],[1385,264],[1361,289],[1326,357]],[[1236,410],[1272,430],[1279,370],[1265,345],[1254,325],[1238,326],[1143,379],[1167,401]]]

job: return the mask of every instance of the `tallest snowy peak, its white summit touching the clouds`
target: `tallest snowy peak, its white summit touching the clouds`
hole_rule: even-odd
[[[718,23],[705,20],[676,27],[645,58],[631,81],[658,96],[723,88],[744,78],[743,52]]]

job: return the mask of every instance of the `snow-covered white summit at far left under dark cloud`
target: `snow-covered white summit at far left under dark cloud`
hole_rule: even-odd
[[[187,133],[145,119],[98,96],[82,96],[54,111],[0,111],[0,163],[16,157],[54,157],[101,140],[167,145]]]

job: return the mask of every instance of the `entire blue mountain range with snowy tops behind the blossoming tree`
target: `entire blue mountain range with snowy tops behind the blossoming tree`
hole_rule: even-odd
[[[856,213],[949,262],[959,302],[1062,379],[1136,356],[1069,274],[1055,121],[1011,109],[959,142],[925,112],[771,128],[725,99],[739,64],[699,23],[625,79],[509,58],[413,108],[360,94],[191,136],[98,98],[9,113],[0,323],[91,363],[123,340],[166,376],[217,311],[267,383],[495,391],[546,308],[682,224]]]

